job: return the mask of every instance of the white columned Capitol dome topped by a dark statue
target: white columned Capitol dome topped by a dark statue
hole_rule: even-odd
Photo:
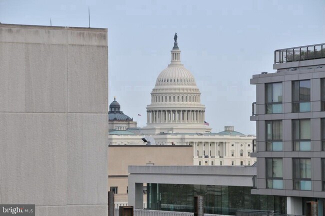
[[[211,128],[204,125],[205,106],[200,103],[195,78],[180,62],[176,34],[174,40],[171,62],[156,79],[141,132],[210,132]]]

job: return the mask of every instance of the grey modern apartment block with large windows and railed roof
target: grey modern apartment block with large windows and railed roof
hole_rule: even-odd
[[[325,198],[325,44],[275,50],[274,73],[253,75],[257,182],[254,194],[287,196],[287,214]],[[313,202],[312,202],[313,201]],[[317,209],[317,208],[315,208]]]

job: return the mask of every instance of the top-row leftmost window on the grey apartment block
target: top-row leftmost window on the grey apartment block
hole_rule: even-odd
[[[282,82],[265,84],[266,113],[282,112]]]

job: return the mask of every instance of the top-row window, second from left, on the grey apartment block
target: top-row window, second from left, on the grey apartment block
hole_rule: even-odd
[[[310,80],[292,81],[292,112],[310,111]]]

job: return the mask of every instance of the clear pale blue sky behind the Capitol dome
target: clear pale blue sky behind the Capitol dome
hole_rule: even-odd
[[[108,29],[108,102],[139,126],[175,32],[213,132],[256,134],[252,74],[274,72],[275,49],[325,42],[324,0],[0,0],[0,22],[88,27],[88,6]]]

